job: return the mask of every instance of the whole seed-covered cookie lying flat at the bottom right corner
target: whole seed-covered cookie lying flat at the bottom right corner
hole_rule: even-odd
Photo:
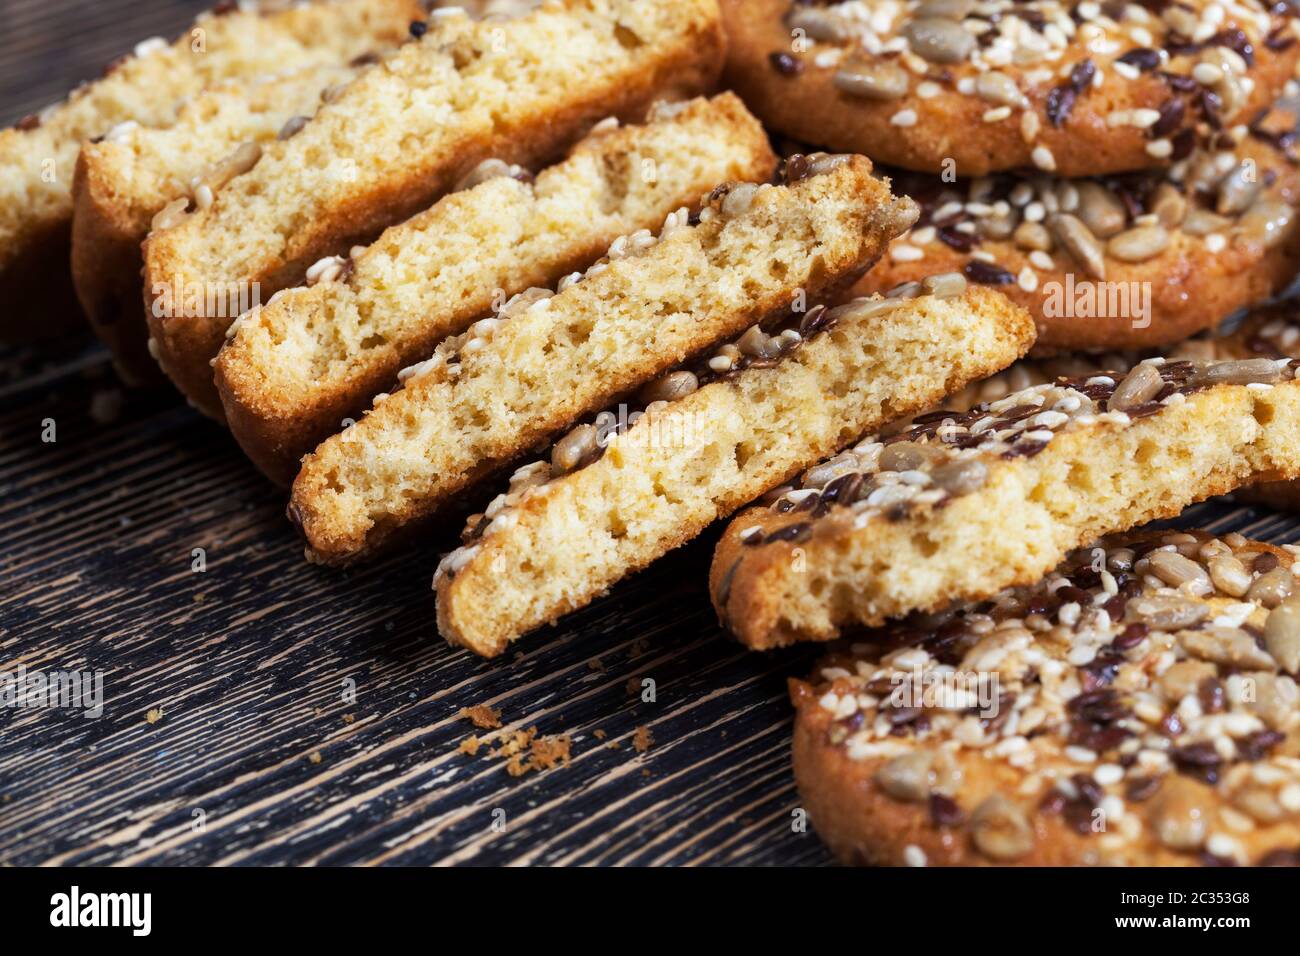
[[[848,864],[1300,864],[1295,554],[1115,536],[790,682],[801,805]]]

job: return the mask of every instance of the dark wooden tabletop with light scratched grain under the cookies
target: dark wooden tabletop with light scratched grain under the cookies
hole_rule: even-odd
[[[0,122],[199,7],[5,0]],[[0,671],[99,670],[105,693],[99,719],[0,709],[0,864],[828,862],[790,826],[785,680],[815,652],[720,633],[714,535],[485,663],[437,639],[439,542],[315,568],[218,427],[162,392],[105,415],[118,395],[90,342],[0,351]],[[1231,503],[1183,520],[1300,537]],[[460,753],[474,704],[569,735],[569,766]]]

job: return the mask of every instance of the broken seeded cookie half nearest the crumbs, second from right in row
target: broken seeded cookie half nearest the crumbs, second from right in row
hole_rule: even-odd
[[[517,471],[438,566],[438,628],[452,644],[499,654],[1032,342],[1028,313],[997,293],[967,290],[956,273],[931,277],[916,298],[819,307],[770,333],[753,326]]]

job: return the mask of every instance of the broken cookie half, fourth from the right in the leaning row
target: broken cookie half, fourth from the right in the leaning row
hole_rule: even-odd
[[[598,130],[536,182],[485,160],[467,189],[355,250],[334,281],[286,290],[233,326],[214,365],[226,421],[289,484],[302,457],[403,365],[504,297],[552,286],[716,183],[768,179],[775,166],[763,127],[732,94]]]

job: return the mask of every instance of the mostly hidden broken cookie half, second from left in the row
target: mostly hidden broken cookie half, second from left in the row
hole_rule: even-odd
[[[162,377],[146,347],[148,326],[140,311],[140,243],[150,224],[169,204],[169,215],[179,215],[196,191],[220,189],[250,168],[265,143],[292,135],[321,96],[359,69],[326,64],[230,81],[187,100],[169,126],[134,126],[82,147],[73,178],[73,282],[91,326],[129,384]]]

